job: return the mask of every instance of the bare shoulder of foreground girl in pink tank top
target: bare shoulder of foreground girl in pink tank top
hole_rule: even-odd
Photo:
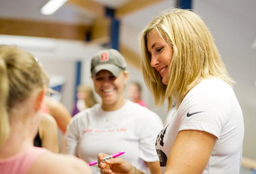
[[[27,174],[92,174],[89,165],[71,155],[46,153],[29,168]]]

